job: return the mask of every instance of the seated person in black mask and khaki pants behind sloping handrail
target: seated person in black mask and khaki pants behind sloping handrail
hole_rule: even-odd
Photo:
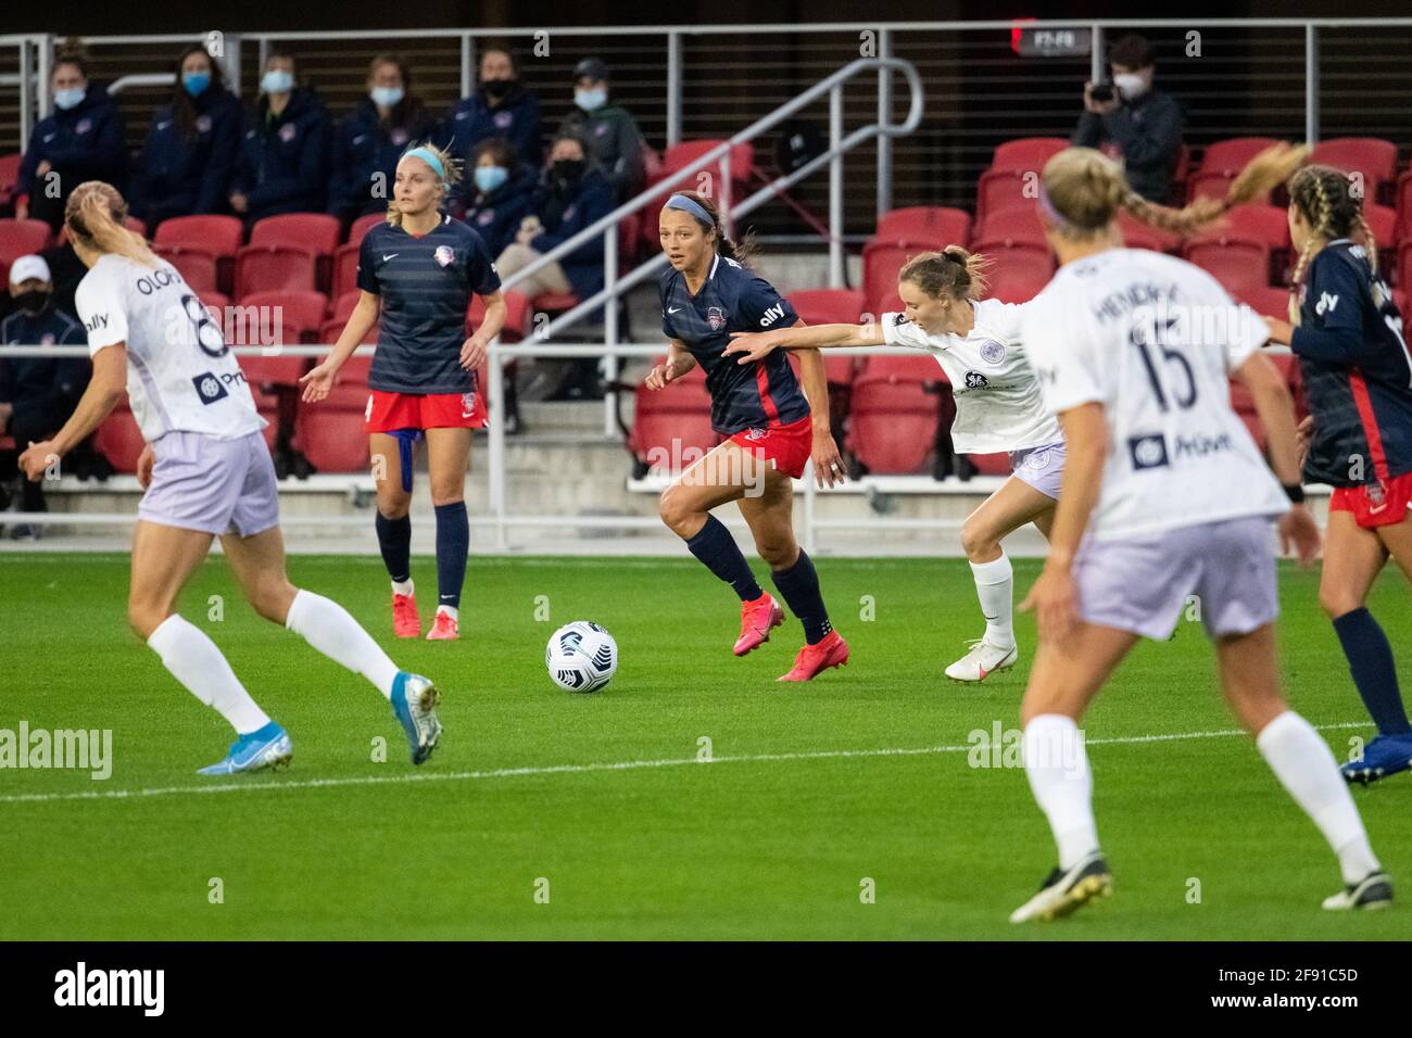
[[[534,212],[521,220],[515,240],[496,260],[501,281],[603,219],[616,206],[613,188],[590,157],[583,138],[575,133],[559,133],[549,148],[549,165],[535,192]],[[572,292],[585,299],[602,291],[603,236],[592,236],[568,256],[508,287],[531,299],[546,292]],[[542,377],[528,391],[530,397],[582,400],[600,395],[594,374],[597,362],[592,357],[573,364],[537,360],[535,366]],[[563,395],[559,395],[561,387]]]

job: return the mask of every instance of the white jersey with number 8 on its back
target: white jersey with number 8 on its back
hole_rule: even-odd
[[[103,256],[75,304],[89,356],[127,343],[127,398],[148,443],[178,429],[237,439],[264,428],[219,325],[165,260]]]

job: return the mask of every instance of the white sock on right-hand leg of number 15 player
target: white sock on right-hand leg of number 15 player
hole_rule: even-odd
[[[1285,710],[1255,736],[1255,746],[1295,802],[1319,826],[1339,856],[1344,883],[1380,871],[1348,784],[1339,774],[1333,750],[1313,726]]]

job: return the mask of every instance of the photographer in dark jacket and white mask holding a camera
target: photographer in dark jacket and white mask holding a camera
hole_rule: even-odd
[[[1182,151],[1182,106],[1152,86],[1152,45],[1130,34],[1108,48],[1113,96],[1096,99],[1096,83],[1083,88],[1083,114],[1072,144],[1120,158],[1128,184],[1149,202],[1166,203]]]

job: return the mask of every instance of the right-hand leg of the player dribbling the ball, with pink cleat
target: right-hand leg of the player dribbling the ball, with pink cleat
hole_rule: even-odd
[[[847,664],[849,643],[833,630],[813,561],[795,541],[792,480],[764,459],[741,453],[753,467],[751,490],[737,501],[740,514],[750,524],[755,549],[770,566],[781,597],[803,624],[805,645],[779,681],[809,681],[830,667]]]

